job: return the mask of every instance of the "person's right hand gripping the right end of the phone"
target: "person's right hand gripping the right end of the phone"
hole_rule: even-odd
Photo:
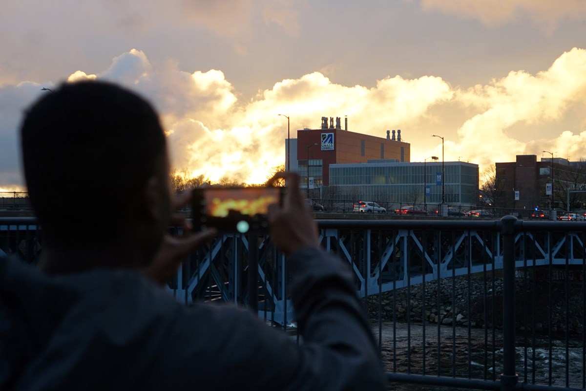
[[[299,175],[295,172],[278,172],[268,183],[278,178],[285,179],[287,193],[282,206],[270,205],[268,210],[272,241],[285,254],[303,247],[318,247],[318,226],[299,190]]]

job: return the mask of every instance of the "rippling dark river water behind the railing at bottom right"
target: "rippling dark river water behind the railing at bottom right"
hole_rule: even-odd
[[[374,328],[378,338],[378,326]],[[439,343],[438,343],[439,342]],[[519,382],[584,387],[582,339],[516,341]],[[381,355],[386,372],[456,378],[499,380],[502,372],[502,334],[492,329],[383,322]],[[447,387],[393,385],[398,390],[453,390]]]

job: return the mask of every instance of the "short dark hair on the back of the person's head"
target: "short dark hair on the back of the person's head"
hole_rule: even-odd
[[[39,222],[68,231],[124,223],[166,148],[151,104],[102,81],[64,83],[42,96],[25,113],[21,146]]]

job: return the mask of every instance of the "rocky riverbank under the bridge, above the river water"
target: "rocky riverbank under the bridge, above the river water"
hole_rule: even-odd
[[[501,277],[460,276],[418,284],[368,298],[369,316],[383,321],[502,329]],[[380,305],[380,307],[379,307]],[[519,332],[582,335],[582,283],[516,280],[515,320]],[[567,308],[567,310],[566,310]]]

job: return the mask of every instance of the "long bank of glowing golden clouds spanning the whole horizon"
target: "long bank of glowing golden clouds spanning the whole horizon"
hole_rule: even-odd
[[[411,161],[441,156],[441,142],[431,134],[445,137],[447,161],[464,157],[481,169],[543,149],[573,160],[586,151],[585,49],[563,53],[536,74],[517,70],[469,89],[437,76],[344,86],[314,72],[242,100],[220,70],[186,72],[173,60],[155,65],[137,49],[114,57],[101,73],[80,70],[69,79],[83,78],[114,80],[146,96],[168,131],[173,167],[212,181],[228,176],[260,183],[284,162],[287,123],[277,114],[290,117],[291,137],[297,129],[319,128],[322,116],[347,115],[349,130],[380,137],[400,128],[411,143]],[[0,87],[0,185],[22,185],[16,128],[42,86],[52,87]]]

